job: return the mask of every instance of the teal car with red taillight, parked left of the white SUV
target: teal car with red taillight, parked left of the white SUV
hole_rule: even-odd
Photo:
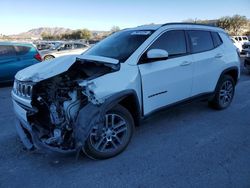
[[[13,81],[19,70],[41,61],[32,44],[0,42],[0,83]]]

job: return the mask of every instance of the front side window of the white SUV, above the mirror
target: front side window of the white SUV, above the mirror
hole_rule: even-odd
[[[168,52],[168,55],[178,56],[187,52],[186,39],[184,31],[168,31],[162,34],[149,48],[163,49]]]

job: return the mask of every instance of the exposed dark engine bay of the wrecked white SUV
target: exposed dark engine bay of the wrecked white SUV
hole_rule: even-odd
[[[75,150],[74,127],[79,111],[89,103],[98,106],[104,102],[95,98],[89,81],[116,70],[118,65],[77,60],[68,71],[35,84],[32,106],[36,110],[30,111],[27,119],[37,139],[49,148]]]

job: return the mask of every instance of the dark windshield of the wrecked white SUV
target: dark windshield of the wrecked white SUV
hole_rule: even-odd
[[[152,34],[149,30],[124,30],[99,42],[85,54],[114,58],[125,62]]]

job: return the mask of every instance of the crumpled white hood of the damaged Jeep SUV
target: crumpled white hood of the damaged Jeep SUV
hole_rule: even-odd
[[[44,61],[23,70],[20,70],[15,79],[19,81],[39,82],[63,72],[66,72],[77,60],[91,60],[104,64],[118,64],[119,61],[112,58],[92,55],[67,55],[49,61]]]

